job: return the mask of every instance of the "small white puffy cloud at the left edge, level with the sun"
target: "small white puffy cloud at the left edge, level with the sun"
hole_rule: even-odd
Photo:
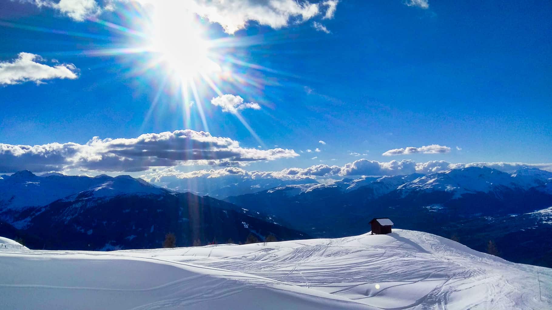
[[[57,64],[50,67],[39,55],[19,53],[12,61],[0,62],[0,85],[20,84],[34,81],[36,84],[52,79],[76,79],[77,68],[73,64]]]

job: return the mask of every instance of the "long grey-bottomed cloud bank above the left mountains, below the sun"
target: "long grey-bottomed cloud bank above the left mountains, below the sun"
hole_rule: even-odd
[[[131,139],[94,137],[86,144],[30,146],[0,143],[0,172],[24,169],[34,172],[68,169],[144,171],[150,167],[179,165],[236,166],[295,156],[299,154],[294,150],[242,148],[231,138],[186,129],[147,133]]]

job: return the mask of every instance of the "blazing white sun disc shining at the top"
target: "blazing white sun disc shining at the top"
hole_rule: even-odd
[[[210,58],[213,43],[206,39],[193,14],[171,6],[157,6],[152,28],[148,50],[158,55],[158,61],[168,72],[189,80],[220,70]]]

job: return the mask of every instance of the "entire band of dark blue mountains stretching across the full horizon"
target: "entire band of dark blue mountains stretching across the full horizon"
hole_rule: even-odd
[[[395,227],[453,238],[478,251],[492,241],[503,258],[552,266],[552,241],[543,237],[552,233],[552,172],[537,168],[468,167],[329,183],[270,180],[258,187],[252,179],[238,177],[231,187],[230,179],[214,180],[210,194],[218,191],[224,201],[130,176],[20,171],[1,177],[0,235],[24,236],[31,248],[159,247],[167,233],[178,246],[245,242],[250,235],[343,237],[369,231],[373,217],[390,217]],[[231,192],[237,194],[227,196]]]

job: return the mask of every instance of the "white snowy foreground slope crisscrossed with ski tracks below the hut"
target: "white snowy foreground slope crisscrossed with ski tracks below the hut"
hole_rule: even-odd
[[[114,252],[0,244],[1,309],[552,309],[552,269],[418,231]]]

